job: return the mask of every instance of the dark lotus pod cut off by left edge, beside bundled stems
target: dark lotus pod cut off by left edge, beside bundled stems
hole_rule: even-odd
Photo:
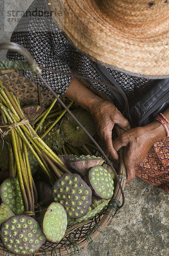
[[[5,172],[9,170],[9,149],[6,140],[0,137],[0,169]]]

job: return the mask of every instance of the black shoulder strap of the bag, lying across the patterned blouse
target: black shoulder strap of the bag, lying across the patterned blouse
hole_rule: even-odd
[[[107,84],[110,84],[110,86],[107,85],[109,90],[113,93],[115,98],[118,100],[120,106],[122,109],[125,108],[125,105],[127,105],[127,115],[129,114],[129,102],[128,99],[124,93],[124,91],[119,86],[118,82],[113,78],[112,75],[107,71],[107,69],[104,66],[101,66],[100,64],[95,64],[96,70],[99,73],[99,76],[101,79],[106,82]],[[114,88],[118,89],[115,90]]]

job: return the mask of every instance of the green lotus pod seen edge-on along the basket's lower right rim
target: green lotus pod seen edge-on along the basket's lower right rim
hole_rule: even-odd
[[[81,218],[78,218],[78,219],[68,218],[68,226],[75,225],[75,224],[83,222],[83,221],[87,221],[87,219],[89,219],[89,218],[93,218],[107,206],[109,201],[110,201],[110,199],[104,200],[101,204],[99,204],[94,209],[91,209],[90,211],[88,211],[87,214]]]

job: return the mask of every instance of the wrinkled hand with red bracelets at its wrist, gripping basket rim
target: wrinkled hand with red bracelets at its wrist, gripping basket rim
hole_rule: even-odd
[[[135,178],[135,167],[146,157],[151,146],[155,143],[149,125],[136,127],[125,131],[113,142],[113,147],[118,151],[125,146],[124,162],[127,171],[127,183]]]

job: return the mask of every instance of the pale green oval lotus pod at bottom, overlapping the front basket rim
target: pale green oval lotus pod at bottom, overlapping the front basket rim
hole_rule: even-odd
[[[68,220],[64,207],[59,203],[51,203],[43,218],[43,233],[51,242],[59,242],[65,236]]]

